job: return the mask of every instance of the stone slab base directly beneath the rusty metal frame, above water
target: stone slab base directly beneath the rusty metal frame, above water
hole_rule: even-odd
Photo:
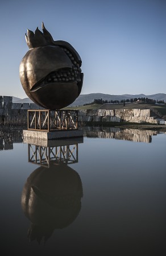
[[[83,137],[82,130],[61,130],[61,131],[31,131],[23,130],[23,138],[36,138],[41,140]]]

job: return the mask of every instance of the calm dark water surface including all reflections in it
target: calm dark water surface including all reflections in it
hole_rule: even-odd
[[[8,255],[165,255],[166,135],[84,127],[84,139],[1,134]]]

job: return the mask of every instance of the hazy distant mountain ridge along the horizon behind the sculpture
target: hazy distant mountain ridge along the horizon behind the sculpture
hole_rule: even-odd
[[[121,101],[121,100],[127,100],[130,98],[151,98],[152,100],[163,100],[166,102],[166,94],[165,93],[156,93],[151,95],[145,95],[145,94],[122,94],[122,95],[111,95],[111,94],[105,94],[105,93],[90,93],[90,94],[81,94],[78,96],[78,98],[69,106],[82,106],[84,104],[88,104],[90,102],[93,102],[94,99],[100,99],[107,100],[107,101]],[[13,97],[14,103],[33,103],[30,98],[16,98]]]

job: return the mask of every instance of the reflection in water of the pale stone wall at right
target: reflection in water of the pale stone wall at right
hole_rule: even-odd
[[[116,127],[83,127],[84,136],[91,138],[110,138],[122,139],[125,141],[133,142],[146,142],[152,141],[152,136],[157,135],[158,131],[151,130],[138,130],[138,129],[120,129]]]

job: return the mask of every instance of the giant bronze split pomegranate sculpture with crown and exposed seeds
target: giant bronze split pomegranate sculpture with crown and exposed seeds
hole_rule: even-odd
[[[65,41],[54,41],[42,23],[43,33],[28,30],[30,50],[23,57],[19,73],[23,89],[36,104],[61,109],[80,95],[83,82],[81,58]]]

